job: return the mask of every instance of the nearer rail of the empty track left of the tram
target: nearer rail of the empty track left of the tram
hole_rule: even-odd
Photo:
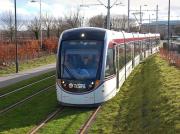
[[[18,105],[20,105],[20,104],[22,104],[22,103],[30,100],[30,99],[33,98],[34,96],[36,96],[36,95],[38,95],[38,94],[40,94],[40,93],[43,93],[43,92],[49,90],[49,89],[50,89],[51,87],[53,87],[53,86],[55,86],[55,85],[53,84],[53,85],[51,85],[51,86],[48,86],[48,87],[46,87],[46,88],[44,88],[44,89],[42,89],[42,90],[40,90],[40,91],[38,91],[38,92],[36,92],[36,93],[34,93],[34,94],[32,94],[32,95],[26,97],[25,99],[20,100],[20,101],[18,101],[18,102],[16,102],[16,103],[14,103],[14,104],[12,104],[12,105],[4,108],[3,110],[0,111],[0,114],[5,113],[5,112],[7,112],[7,111],[9,111],[9,110],[11,110],[11,109],[13,109],[13,108],[15,108],[16,106],[18,106]]]

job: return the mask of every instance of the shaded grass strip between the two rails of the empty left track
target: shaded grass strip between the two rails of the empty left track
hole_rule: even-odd
[[[32,85],[31,87],[24,88],[23,90],[20,90],[18,92],[12,93],[4,98],[0,98],[0,110],[25,99],[26,97],[43,90],[44,88],[55,84],[55,77],[49,78],[47,80],[41,81],[37,84]]]

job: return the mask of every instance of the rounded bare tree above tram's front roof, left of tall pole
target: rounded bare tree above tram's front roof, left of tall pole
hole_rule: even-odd
[[[91,17],[88,21],[88,25],[90,27],[104,28],[105,27],[105,16],[103,16],[101,14],[101,15],[96,15],[96,16]]]

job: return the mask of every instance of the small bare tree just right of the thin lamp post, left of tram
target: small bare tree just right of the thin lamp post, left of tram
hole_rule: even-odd
[[[42,25],[44,26],[44,28],[46,30],[46,36],[48,38],[50,37],[50,30],[52,29],[53,20],[54,20],[54,18],[52,16],[49,16],[47,13],[42,18]]]

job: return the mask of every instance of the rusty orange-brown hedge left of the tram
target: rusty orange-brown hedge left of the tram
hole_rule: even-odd
[[[58,39],[44,39],[42,47],[38,40],[19,40],[18,41],[18,60],[19,62],[28,61],[41,56],[56,53]],[[0,42],[0,66],[14,64],[16,55],[15,43],[9,41]]]

